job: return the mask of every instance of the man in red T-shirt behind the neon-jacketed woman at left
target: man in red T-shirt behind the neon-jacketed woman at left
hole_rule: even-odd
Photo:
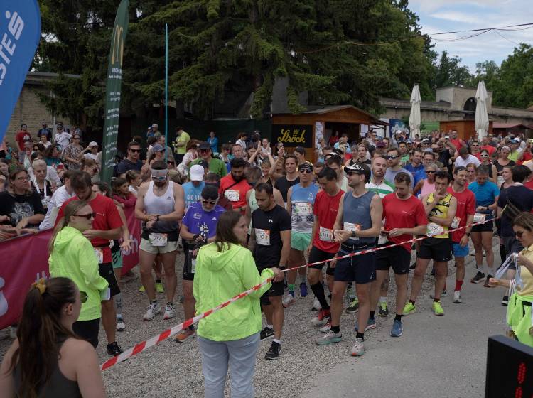
[[[122,348],[119,347],[115,340],[116,314],[112,297],[120,293],[120,288],[113,272],[109,240],[119,239],[121,237],[122,220],[113,200],[104,195],[97,194],[92,190],[91,177],[88,173],[78,170],[72,171],[72,173],[70,187],[74,191],[75,196],[63,203],[59,210],[56,224],[63,218],[65,205],[72,200],[85,200],[95,213],[92,230],[83,232],[83,236],[90,240],[92,247],[95,248],[100,276],[109,282],[110,297],[108,300],[102,301],[102,324],[104,325],[107,336],[107,353],[117,356],[122,353]],[[79,330],[76,330],[76,333],[83,337]]]

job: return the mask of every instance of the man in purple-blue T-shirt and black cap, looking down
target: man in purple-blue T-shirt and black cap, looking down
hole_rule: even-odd
[[[183,253],[185,254],[182,281],[185,319],[193,318],[194,316],[193,281],[196,254],[200,245],[215,241],[218,219],[225,212],[224,208],[217,205],[217,203],[217,188],[212,185],[205,185],[200,201],[189,206],[181,223],[180,236],[183,242]],[[178,343],[183,343],[194,333],[194,326],[190,326],[188,329],[181,330],[174,340]]]

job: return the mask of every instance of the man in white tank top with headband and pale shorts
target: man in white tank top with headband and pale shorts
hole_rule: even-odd
[[[176,316],[173,305],[177,284],[174,262],[178,250],[178,226],[183,217],[185,202],[183,188],[168,181],[167,175],[165,162],[152,163],[151,181],[141,185],[135,205],[135,216],[144,223],[139,246],[139,263],[141,281],[150,301],[143,316],[145,321],[153,319],[161,312],[151,274],[152,265],[158,255],[165,270],[166,306],[163,319]]]

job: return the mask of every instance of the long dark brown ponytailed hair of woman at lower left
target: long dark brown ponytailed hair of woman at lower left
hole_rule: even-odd
[[[76,302],[77,287],[68,278],[41,279],[33,284],[24,301],[18,323],[18,348],[9,372],[20,371],[17,397],[37,397],[50,380],[59,358],[58,343],[75,335],[61,323],[65,305]]]

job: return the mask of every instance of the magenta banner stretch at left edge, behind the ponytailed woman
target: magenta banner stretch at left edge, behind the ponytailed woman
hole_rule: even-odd
[[[0,242],[0,329],[18,321],[31,284],[48,278],[48,241],[52,230]]]

